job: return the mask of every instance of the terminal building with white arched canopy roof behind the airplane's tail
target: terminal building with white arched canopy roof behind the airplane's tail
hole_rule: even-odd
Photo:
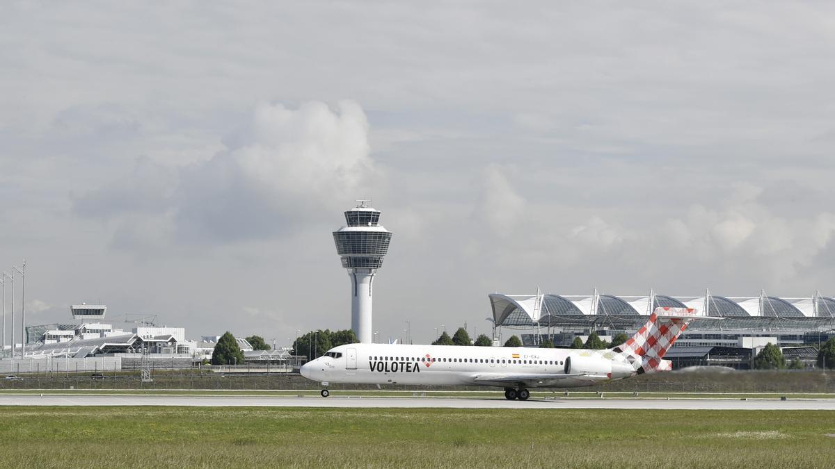
[[[493,325],[514,330],[524,345],[551,339],[568,346],[574,337],[619,333],[632,335],[659,306],[695,308],[721,319],[696,320],[676,341],[681,347],[757,346],[746,340],[779,346],[817,345],[835,335],[835,299],[819,293],[802,298],[766,295],[488,295]]]

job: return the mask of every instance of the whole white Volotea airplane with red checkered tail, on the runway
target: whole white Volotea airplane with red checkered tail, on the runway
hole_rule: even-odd
[[[666,351],[699,315],[691,308],[658,307],[635,335],[605,350],[466,345],[350,344],[301,366],[301,376],[330,383],[495,386],[525,401],[528,388],[593,386],[643,373],[671,371]],[[321,390],[327,397],[330,391]]]

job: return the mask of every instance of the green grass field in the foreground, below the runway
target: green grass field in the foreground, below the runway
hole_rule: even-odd
[[[831,411],[2,407],[5,467],[824,467]]]

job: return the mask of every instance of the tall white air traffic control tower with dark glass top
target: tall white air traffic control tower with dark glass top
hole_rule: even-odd
[[[372,342],[372,282],[382,257],[388,252],[392,232],[383,228],[380,211],[357,200],[357,207],[345,212],[347,226],[333,232],[342,267],[351,277],[351,328],[363,344]]]

